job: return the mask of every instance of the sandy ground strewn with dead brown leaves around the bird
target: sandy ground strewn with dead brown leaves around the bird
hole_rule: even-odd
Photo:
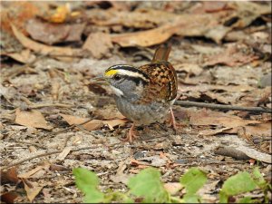
[[[2,14],[24,13],[24,5],[19,3],[1,4]],[[219,202],[223,181],[238,171],[251,172],[258,166],[265,179],[271,180],[271,113],[175,104],[177,132],[167,122],[138,127],[140,137],[130,144],[120,139],[131,127],[131,121],[116,109],[111,89],[91,82],[114,64],[150,63],[158,44],[168,43],[172,45],[169,61],[178,73],[180,101],[271,109],[270,3],[70,4],[75,11],[90,13],[89,21],[83,18],[77,22],[84,23],[84,29],[82,37],[73,43],[64,42],[63,38],[50,43],[48,34],[37,36],[33,32],[39,31],[41,24],[37,22],[33,22],[37,27],[26,24],[22,30],[23,23],[17,20],[17,30],[12,30],[4,26],[7,20],[1,14],[1,170],[9,170],[2,175],[2,195],[7,194],[8,200],[18,203],[82,202],[83,194],[74,183],[75,167],[94,171],[102,190],[121,191],[126,190],[126,181],[132,175],[149,166],[160,170],[165,183],[179,182],[189,167],[199,167],[208,172],[209,181],[199,194],[209,203]],[[254,17],[245,15],[251,8],[246,4],[259,6],[252,13]],[[137,9],[143,8],[147,11],[137,14]],[[109,9],[113,14],[127,13],[128,17],[103,16]],[[154,15],[154,10],[164,12],[165,18]],[[152,31],[159,32],[153,35],[158,40],[154,43],[149,39],[146,44],[131,45],[127,36],[125,40],[121,36],[154,30],[161,24],[170,26],[166,14],[173,15],[170,19],[182,15],[192,20],[167,39],[159,39],[160,31]],[[198,16],[200,20],[194,22]],[[217,20],[208,21],[210,17]],[[199,23],[202,18],[208,23]],[[47,44],[46,49],[72,47],[74,52],[82,49],[93,33],[101,34],[90,37],[94,48],[90,45],[89,52],[79,56],[67,50],[43,53],[44,45],[38,49],[34,44]],[[118,38],[112,34],[120,35]],[[133,37],[139,39],[140,35]],[[81,124],[86,120],[89,121]],[[268,194],[271,200],[271,193]],[[247,195],[264,197],[260,190]]]

